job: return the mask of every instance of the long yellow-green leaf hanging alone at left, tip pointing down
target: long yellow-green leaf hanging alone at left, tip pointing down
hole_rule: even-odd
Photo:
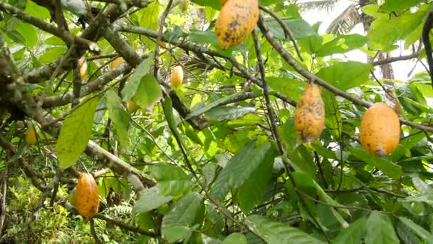
[[[80,105],[66,116],[56,144],[59,167],[69,168],[80,158],[92,136],[93,116],[98,98]]]

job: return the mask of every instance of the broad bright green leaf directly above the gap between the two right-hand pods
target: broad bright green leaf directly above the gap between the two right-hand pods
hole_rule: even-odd
[[[371,69],[372,65],[370,63],[355,61],[338,62],[320,69],[317,76],[340,90],[346,91],[368,81]]]

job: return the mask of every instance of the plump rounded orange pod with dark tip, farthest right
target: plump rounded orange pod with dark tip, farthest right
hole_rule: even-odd
[[[375,103],[361,121],[360,141],[366,151],[378,156],[392,153],[400,142],[400,121],[386,103]]]

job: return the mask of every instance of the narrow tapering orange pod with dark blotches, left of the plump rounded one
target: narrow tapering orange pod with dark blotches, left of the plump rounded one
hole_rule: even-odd
[[[324,127],[325,105],[320,89],[316,84],[309,83],[296,105],[296,134],[303,142],[312,143],[319,138]]]

